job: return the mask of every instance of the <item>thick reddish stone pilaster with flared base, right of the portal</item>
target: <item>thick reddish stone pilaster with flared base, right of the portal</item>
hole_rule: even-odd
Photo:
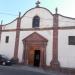
[[[52,69],[59,69],[60,63],[58,61],[58,14],[56,9],[56,14],[53,15],[53,57],[51,61]]]

